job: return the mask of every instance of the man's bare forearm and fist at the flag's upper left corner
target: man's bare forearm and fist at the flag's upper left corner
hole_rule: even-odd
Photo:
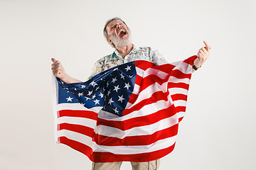
[[[54,58],[52,58],[51,60],[53,61],[51,69],[53,70],[53,75],[55,77],[58,77],[61,81],[65,82],[66,84],[82,82],[80,80],[73,79],[72,77],[68,76],[68,74],[65,74],[65,70],[58,60],[55,60]]]

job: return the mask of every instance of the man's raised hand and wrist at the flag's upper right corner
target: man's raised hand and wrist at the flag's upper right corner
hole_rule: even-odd
[[[210,55],[210,45],[208,45],[208,42],[206,42],[205,40],[203,41],[203,43],[206,45],[206,47],[201,47],[201,49],[198,50],[197,58],[194,61],[194,65],[196,66],[196,68],[201,67],[203,62],[205,62]],[[196,71],[196,69],[192,70],[192,72],[194,71]]]

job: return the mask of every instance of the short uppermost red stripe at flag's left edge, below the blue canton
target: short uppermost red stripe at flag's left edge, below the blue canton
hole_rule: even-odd
[[[92,120],[97,120],[97,113],[93,111],[79,111],[79,110],[61,110],[59,111],[59,116],[64,117],[79,117],[79,118],[89,118]]]

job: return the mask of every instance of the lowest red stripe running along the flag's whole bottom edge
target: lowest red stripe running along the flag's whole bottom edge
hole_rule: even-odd
[[[87,155],[92,162],[149,162],[166,156],[174,150],[174,145],[165,149],[143,154],[112,154],[110,152],[92,152],[92,148],[80,142],[60,137],[60,142]]]

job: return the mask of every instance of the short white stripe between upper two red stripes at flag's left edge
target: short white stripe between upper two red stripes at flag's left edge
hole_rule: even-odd
[[[94,129],[97,121],[89,119],[89,118],[75,118],[75,117],[64,116],[64,117],[58,118],[57,123],[58,124],[70,123],[70,124],[75,124],[75,125],[83,125],[83,126],[87,126],[89,128]]]

